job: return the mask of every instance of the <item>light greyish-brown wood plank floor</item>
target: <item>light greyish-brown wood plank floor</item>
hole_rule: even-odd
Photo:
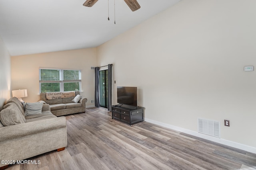
[[[103,108],[66,116],[68,146],[8,170],[252,170],[256,154],[148,122],[128,124]],[[60,139],[61,140],[61,139]]]

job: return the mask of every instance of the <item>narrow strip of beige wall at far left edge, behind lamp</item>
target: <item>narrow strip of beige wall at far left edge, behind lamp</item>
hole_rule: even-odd
[[[0,37],[0,110],[10,98],[11,57]]]

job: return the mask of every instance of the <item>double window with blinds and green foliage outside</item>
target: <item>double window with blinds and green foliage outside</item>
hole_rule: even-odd
[[[80,91],[81,70],[39,68],[40,92]]]

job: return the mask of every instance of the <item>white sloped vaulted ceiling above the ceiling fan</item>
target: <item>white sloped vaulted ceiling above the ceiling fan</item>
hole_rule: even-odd
[[[0,0],[0,37],[11,56],[97,47],[180,0]],[[109,18],[108,21],[108,2]]]

